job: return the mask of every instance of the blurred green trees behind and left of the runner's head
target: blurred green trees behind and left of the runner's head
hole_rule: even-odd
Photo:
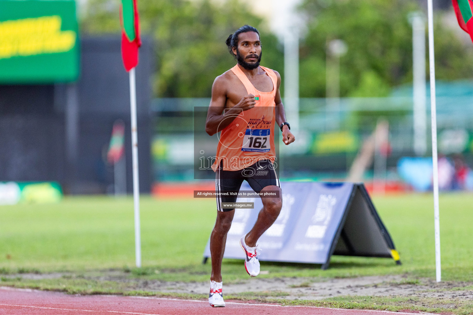
[[[81,21],[89,34],[120,30],[118,2],[90,0]],[[157,72],[154,94],[161,97],[209,97],[215,77],[236,61],[225,44],[229,34],[245,24],[255,26],[263,43],[262,65],[282,71],[282,52],[261,18],[246,6],[228,0],[217,6],[210,0],[140,0],[142,34],[153,38]]]

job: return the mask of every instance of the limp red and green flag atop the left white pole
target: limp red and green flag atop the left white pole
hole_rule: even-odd
[[[140,19],[136,0],[122,0],[120,9],[122,22],[122,58],[126,71],[138,64],[138,48],[140,40]]]

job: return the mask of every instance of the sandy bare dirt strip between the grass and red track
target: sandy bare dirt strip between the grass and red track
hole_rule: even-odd
[[[6,278],[52,279],[72,277],[68,273],[14,274]],[[120,271],[89,273],[85,279],[96,281],[117,281],[127,284],[129,290],[143,290],[165,293],[208,294],[210,282],[159,281],[130,278]],[[241,281],[223,282],[223,294],[242,292],[266,292],[271,298],[319,300],[337,296],[409,296],[427,298],[461,298],[473,300],[473,290],[463,287],[473,286],[473,282],[413,279],[407,275],[386,275],[338,279],[317,278],[249,278]],[[281,295],[278,295],[278,292]]]

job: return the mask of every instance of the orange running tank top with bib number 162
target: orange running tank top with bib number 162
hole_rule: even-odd
[[[260,66],[261,67],[261,66]],[[278,78],[273,70],[261,67],[271,78],[271,92],[261,92],[251,84],[245,73],[236,65],[231,68],[245,85],[246,92],[256,100],[254,108],[242,111],[220,132],[217,154],[212,169],[222,162],[223,170],[243,170],[260,160],[276,159],[274,148],[275,102]],[[224,111],[225,115],[225,111]],[[229,116],[230,117],[230,116]],[[218,136],[218,134],[217,134]]]

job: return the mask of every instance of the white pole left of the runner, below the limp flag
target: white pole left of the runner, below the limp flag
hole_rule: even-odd
[[[130,70],[130,106],[131,106],[131,155],[133,165],[133,205],[135,212],[135,256],[136,266],[141,267],[140,233],[140,182],[138,177],[138,130],[136,123],[136,80],[135,68]]]

